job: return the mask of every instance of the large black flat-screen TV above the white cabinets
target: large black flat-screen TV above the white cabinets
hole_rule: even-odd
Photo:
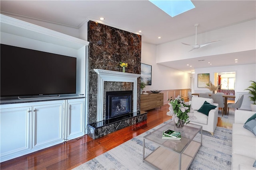
[[[76,93],[76,58],[1,44],[0,95]]]

